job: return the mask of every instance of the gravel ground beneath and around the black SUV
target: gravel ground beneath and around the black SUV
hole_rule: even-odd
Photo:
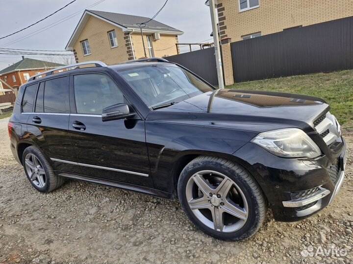
[[[204,235],[178,202],[68,180],[35,191],[9,150],[0,119],[0,263],[353,263],[353,169],[334,202],[295,223],[268,213],[243,242]],[[353,131],[344,130],[353,150]]]

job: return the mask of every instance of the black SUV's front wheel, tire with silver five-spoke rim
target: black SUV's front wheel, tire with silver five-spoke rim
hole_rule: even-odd
[[[247,239],[265,219],[267,202],[258,183],[242,166],[223,158],[192,160],[180,174],[177,192],[187,217],[220,240]]]

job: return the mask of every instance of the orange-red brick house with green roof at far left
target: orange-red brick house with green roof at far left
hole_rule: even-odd
[[[0,70],[0,78],[9,86],[19,88],[31,76],[59,66],[63,65],[22,57],[21,61]]]

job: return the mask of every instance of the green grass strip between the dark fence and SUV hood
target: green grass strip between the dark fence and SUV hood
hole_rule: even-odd
[[[301,93],[323,98],[340,124],[353,125],[353,70],[236,83],[226,88]]]

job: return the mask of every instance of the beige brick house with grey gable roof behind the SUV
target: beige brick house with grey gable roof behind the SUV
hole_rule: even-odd
[[[102,61],[115,64],[145,56],[137,23],[150,20],[111,12],[85,10],[66,50],[72,50],[76,62]],[[183,32],[151,20],[143,28],[147,57],[177,54],[176,43]]]

